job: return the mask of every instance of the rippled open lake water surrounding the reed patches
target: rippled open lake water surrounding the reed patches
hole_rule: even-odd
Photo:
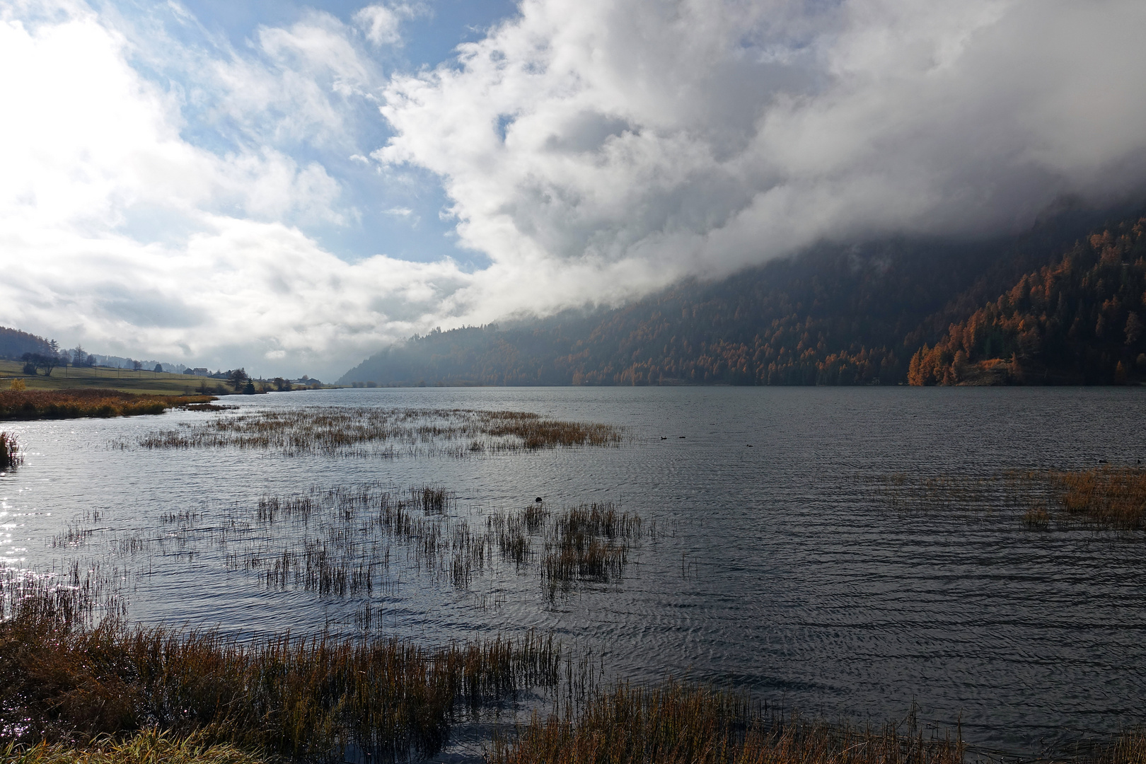
[[[358,633],[363,607],[377,615],[371,632],[432,644],[551,630],[610,679],[712,682],[873,724],[915,703],[920,718],[1015,755],[1144,720],[1141,534],[1035,531],[1004,504],[890,506],[866,481],[1136,464],[1138,389],[419,388],[226,402],[513,409],[620,425],[630,439],[466,458],[286,456],[132,446],[207,413],[5,423],[26,463],[0,475],[0,562],[99,562],[120,576],[132,619],[243,638]],[[537,496],[613,501],[658,533],[622,580],[552,600],[511,566],[464,589],[409,568],[369,596],[269,591],[212,541],[260,496],[374,482],[444,486],[474,522]],[[181,513],[197,519],[164,520]],[[81,526],[93,533],[69,543]]]

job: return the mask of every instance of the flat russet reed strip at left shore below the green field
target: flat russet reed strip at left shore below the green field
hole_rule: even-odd
[[[95,387],[0,391],[0,419],[132,417],[213,400],[211,395],[139,395]]]

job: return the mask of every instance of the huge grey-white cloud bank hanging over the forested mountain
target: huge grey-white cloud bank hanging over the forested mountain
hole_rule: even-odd
[[[374,156],[437,173],[461,244],[521,285],[543,263],[584,278],[554,304],[615,300],[1139,191],[1144,25],[1133,1],[525,0],[460,65],[391,80]]]

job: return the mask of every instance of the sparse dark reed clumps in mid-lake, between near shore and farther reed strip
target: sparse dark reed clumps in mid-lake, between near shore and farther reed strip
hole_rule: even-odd
[[[582,583],[620,580],[630,551],[656,535],[656,527],[646,530],[638,515],[612,503],[495,510],[484,527],[458,513],[453,495],[435,486],[312,489],[262,497],[251,522],[233,514],[217,541],[228,569],[253,572],[274,590],[329,597],[392,591],[392,564],[466,590],[496,565],[512,564],[517,574],[537,575],[552,599]]]

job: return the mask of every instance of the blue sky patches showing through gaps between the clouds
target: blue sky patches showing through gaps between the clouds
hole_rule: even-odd
[[[361,0],[317,3],[194,0],[181,3],[195,23],[188,23],[183,13],[163,5],[136,3],[133,7],[129,3],[110,3],[110,7],[119,13],[158,21],[170,34],[188,46],[204,46],[222,53],[220,42],[226,41],[241,55],[250,55],[258,49],[256,41],[260,30],[290,27],[315,13],[330,14],[351,27],[354,15],[363,5]],[[418,72],[441,63],[449,65],[458,45],[480,40],[489,29],[516,13],[516,3],[501,0],[424,1],[418,3],[416,13],[402,19],[400,44],[372,49],[371,57],[383,76],[397,71]],[[141,62],[140,70],[147,72],[147,64]],[[187,88],[195,85],[194,71],[165,69],[149,73],[160,86],[168,88],[172,81]],[[355,117],[353,129],[361,147],[359,156],[382,147],[392,135],[376,104],[358,102],[344,107]],[[187,125],[181,134],[187,141],[217,153],[237,148],[234,133],[227,129],[226,124],[220,125],[210,115],[191,107],[186,107],[182,115]],[[353,261],[384,252],[419,261],[449,257],[469,270],[489,265],[482,252],[457,246],[452,222],[441,218],[449,200],[433,174],[411,168],[403,174],[402,182],[395,183],[337,150],[323,150],[306,141],[291,141],[284,148],[299,160],[320,162],[338,179],[345,194],[355,200],[360,216],[352,222],[305,227],[339,258]]]

